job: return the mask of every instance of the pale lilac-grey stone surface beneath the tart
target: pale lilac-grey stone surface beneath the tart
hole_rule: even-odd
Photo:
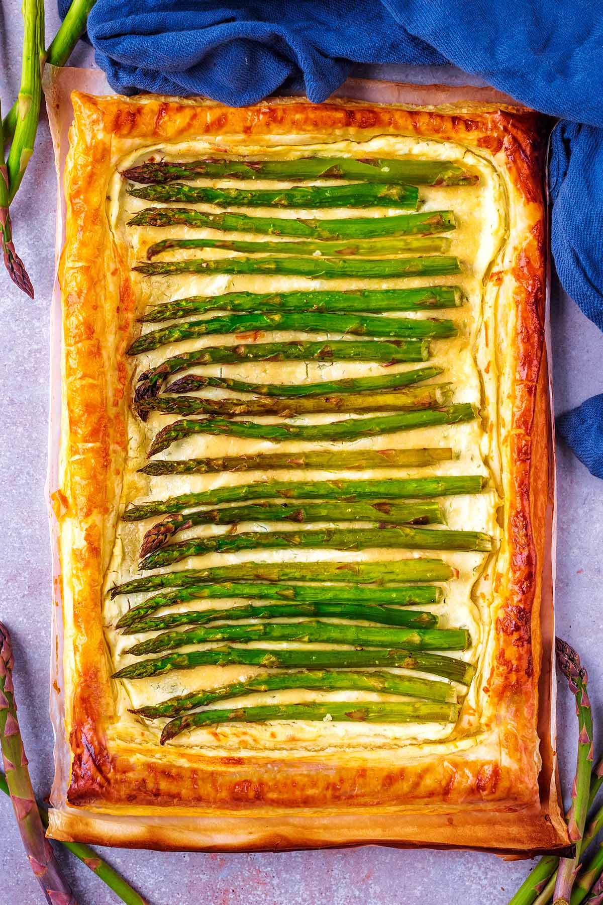
[[[56,14],[49,4],[48,33]],[[4,18],[3,18],[4,17]],[[0,93],[5,106],[18,87],[21,24],[14,0],[0,4]],[[90,59],[80,49],[76,64]],[[10,62],[10,68],[6,65]],[[55,181],[52,147],[42,120],[35,155],[14,205],[14,233],[36,288],[35,301],[0,272],[0,618],[14,637],[15,687],[33,783],[40,795],[52,782],[48,717],[50,557],[44,497],[48,418],[49,302],[52,291]],[[553,359],[558,412],[602,388],[603,337],[574,303],[553,288]],[[603,663],[599,643],[603,482],[563,446],[558,448],[559,553],[557,629],[589,667],[600,718]],[[598,693],[599,692],[599,693]],[[561,771],[570,787],[575,716],[561,689]],[[25,860],[8,800],[0,800],[0,901],[42,901]],[[492,855],[399,852],[361,848],[280,854],[187,854],[106,849],[108,861],[153,905],[502,905],[528,871],[526,862]],[[118,901],[80,862],[59,854],[80,905]]]

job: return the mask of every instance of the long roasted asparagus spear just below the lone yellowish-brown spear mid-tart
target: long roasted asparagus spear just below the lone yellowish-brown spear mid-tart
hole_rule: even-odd
[[[432,478],[399,478],[391,481],[256,481],[216,487],[211,491],[182,493],[168,500],[153,500],[131,506],[123,514],[126,521],[146,519],[151,515],[182,512],[193,506],[218,506],[241,500],[411,500],[413,498],[444,497],[459,493],[479,493],[485,478],[479,474],[442,475]]]

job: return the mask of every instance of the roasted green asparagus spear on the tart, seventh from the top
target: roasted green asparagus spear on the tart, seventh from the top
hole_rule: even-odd
[[[451,320],[378,318],[348,314],[227,314],[209,320],[188,320],[138,337],[127,355],[139,355],[154,348],[212,336],[216,333],[253,333],[268,330],[299,330],[303,333],[342,333],[391,339],[447,339],[457,335]]]

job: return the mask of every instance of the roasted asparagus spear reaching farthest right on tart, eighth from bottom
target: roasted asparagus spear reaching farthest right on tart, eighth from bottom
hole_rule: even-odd
[[[337,529],[314,531],[244,531],[181,540],[150,553],[140,569],[171,566],[188,557],[235,550],[316,548],[365,550],[372,547],[423,550],[476,550],[487,553],[492,538],[481,531],[449,531],[427,528]]]

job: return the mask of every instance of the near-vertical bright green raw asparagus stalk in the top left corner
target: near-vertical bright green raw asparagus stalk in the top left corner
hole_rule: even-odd
[[[8,152],[9,202],[21,185],[25,167],[33,154],[33,142],[40,119],[44,51],[44,5],[42,0],[23,0],[24,38],[21,87],[17,100],[14,137]]]

